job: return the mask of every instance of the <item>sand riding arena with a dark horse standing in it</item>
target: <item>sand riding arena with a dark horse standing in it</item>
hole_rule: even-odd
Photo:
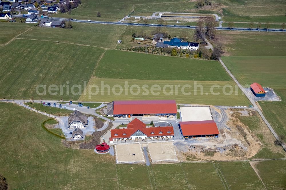
[[[117,144],[115,146],[116,163],[144,163],[143,152],[139,143]],[[132,155],[135,154],[135,155]]]

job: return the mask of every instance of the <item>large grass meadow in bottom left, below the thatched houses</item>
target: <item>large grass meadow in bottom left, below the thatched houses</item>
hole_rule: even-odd
[[[63,147],[41,128],[46,116],[8,103],[0,103],[0,111],[5,113],[0,121],[0,171],[10,189],[71,189],[81,179],[116,179],[114,157]],[[86,189],[96,187],[92,183]]]

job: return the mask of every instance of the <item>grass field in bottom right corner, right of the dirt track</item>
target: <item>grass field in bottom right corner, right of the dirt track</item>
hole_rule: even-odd
[[[285,160],[260,161],[255,167],[267,189],[286,189]]]

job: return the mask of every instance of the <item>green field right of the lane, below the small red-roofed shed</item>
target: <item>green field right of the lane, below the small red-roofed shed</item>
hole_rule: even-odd
[[[282,101],[271,102],[271,101],[259,101],[259,105],[263,110],[263,114],[267,121],[270,122],[275,132],[279,135],[286,136],[286,90],[274,90],[278,96],[281,97]]]

